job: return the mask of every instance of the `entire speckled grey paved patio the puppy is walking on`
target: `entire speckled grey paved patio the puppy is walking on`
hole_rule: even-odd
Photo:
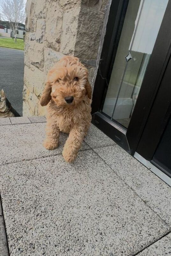
[[[45,122],[0,119],[0,256],[171,255],[171,188],[93,125],[66,163]]]

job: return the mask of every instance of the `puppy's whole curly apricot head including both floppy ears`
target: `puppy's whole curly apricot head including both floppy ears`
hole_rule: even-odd
[[[91,92],[87,68],[77,57],[64,56],[49,71],[40,104],[46,106],[51,100],[59,107],[71,107],[85,99],[85,95],[91,100]]]

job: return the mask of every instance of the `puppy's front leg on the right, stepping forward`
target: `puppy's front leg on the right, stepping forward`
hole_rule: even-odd
[[[78,150],[81,148],[84,138],[85,127],[75,125],[69,133],[68,140],[66,141],[62,155],[64,159],[71,163],[75,160]]]

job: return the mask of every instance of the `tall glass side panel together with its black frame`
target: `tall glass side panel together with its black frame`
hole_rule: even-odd
[[[171,0],[113,0],[96,76],[93,123],[134,154],[171,49]]]

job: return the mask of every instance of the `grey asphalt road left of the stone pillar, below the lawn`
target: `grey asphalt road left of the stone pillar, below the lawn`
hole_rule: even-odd
[[[22,116],[24,85],[24,51],[0,48],[0,90]]]

